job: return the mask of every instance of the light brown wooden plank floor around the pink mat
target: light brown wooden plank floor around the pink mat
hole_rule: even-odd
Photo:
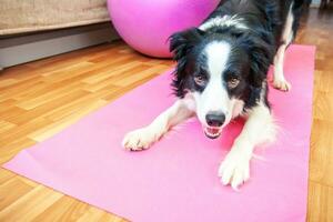
[[[331,40],[331,41],[330,41]],[[297,43],[317,46],[309,221],[333,221],[333,13],[311,10]],[[172,65],[122,42],[0,72],[0,163]],[[0,221],[125,221],[0,169]]]

